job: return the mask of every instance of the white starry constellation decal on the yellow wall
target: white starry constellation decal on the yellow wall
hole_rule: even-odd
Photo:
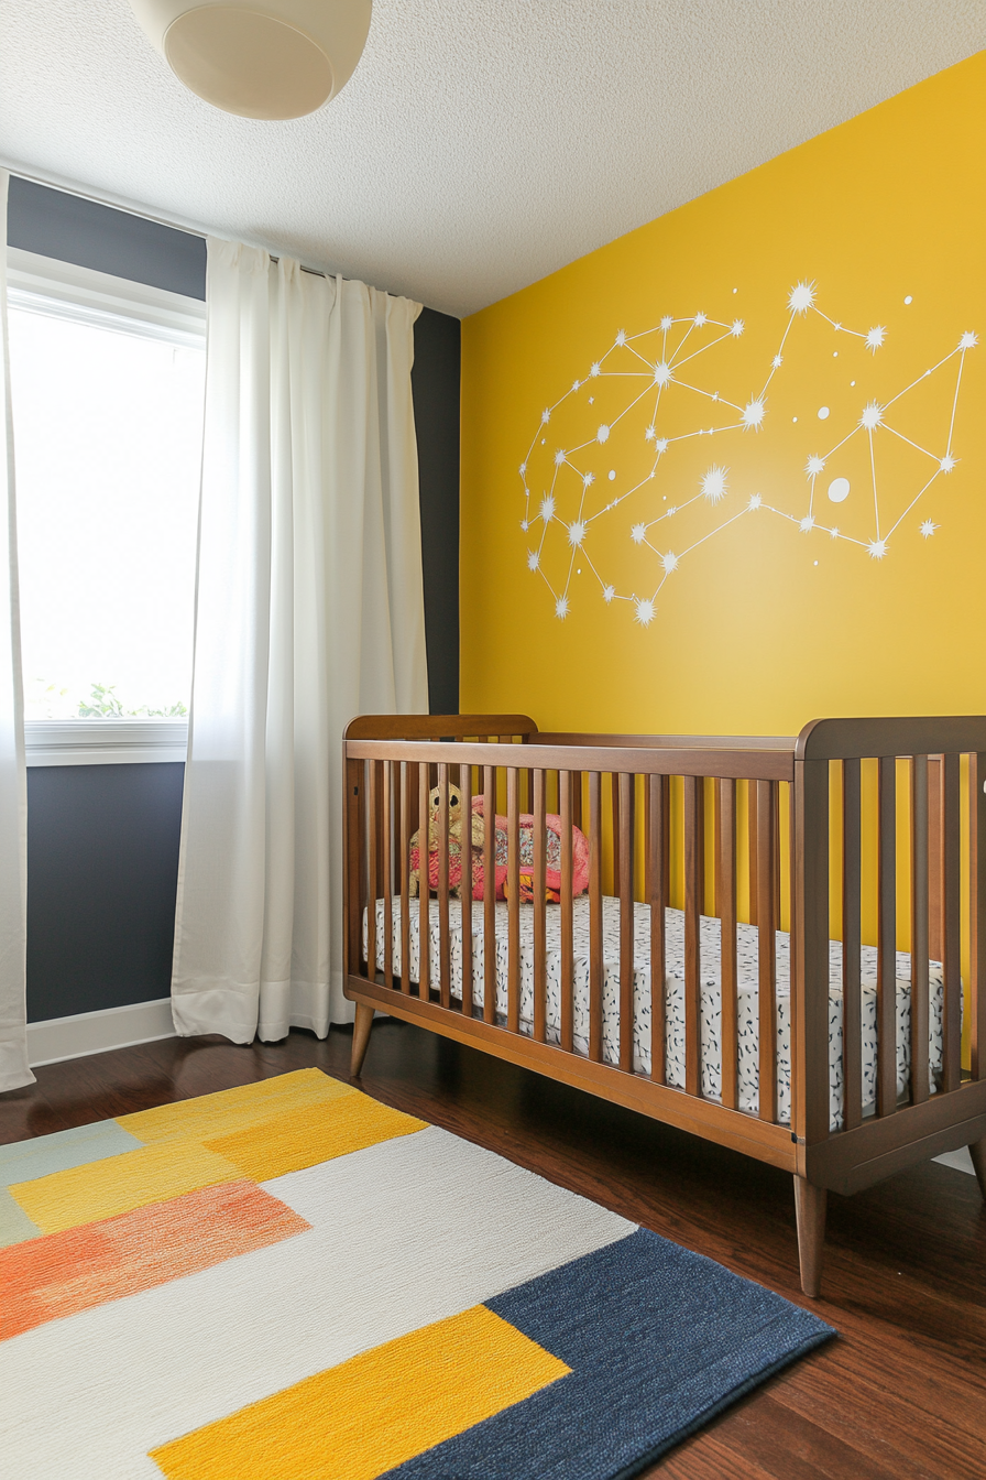
[[[634,622],[650,626],[665,582],[707,540],[749,517],[773,515],[804,534],[856,546],[874,561],[887,556],[908,515],[958,463],[955,413],[965,355],[979,337],[962,333],[936,364],[883,401],[863,400],[857,392],[859,410],[849,429],[843,435],[829,434],[829,445],[809,451],[797,469],[789,469],[782,497],[767,499],[760,488],[741,491],[730,474],[730,444],[751,435],[769,437],[772,383],[783,374],[798,326],[809,320],[828,324],[837,343],[847,336],[850,346],[853,342],[859,346],[857,354],[869,352],[863,355],[866,360],[885,349],[885,326],[863,330],[831,318],[817,302],[816,284],[800,281],[789,290],[783,332],[751,394],[723,394],[713,380],[713,374],[727,371],[735,385],[745,373],[741,361],[745,321],[698,312],[684,318],[665,315],[655,327],[634,334],[621,329],[587,374],[544,407],[520,463],[520,528],[528,542],[528,570],[544,580],[556,617],[563,620],[572,610],[574,576],[581,574],[585,562],[606,605],[625,602]],[[720,352],[713,355],[717,346]],[[832,351],[832,358],[838,354]],[[953,383],[942,386],[952,371]],[[940,388],[942,426],[934,445],[924,445],[903,429],[911,428],[908,407],[928,383]],[[850,386],[856,388],[854,379]],[[943,391],[948,391],[945,400]],[[820,428],[831,416],[829,406],[817,407]],[[798,417],[791,420],[797,423]],[[698,438],[714,438],[713,457],[681,494],[680,478],[674,481],[670,468],[676,450]],[[565,444],[557,445],[559,440]],[[885,478],[891,445],[897,451],[906,445],[911,463],[902,468],[897,459],[894,477]],[[670,490],[673,502],[662,488]],[[622,527],[615,522],[621,521],[621,511],[631,514]],[[918,533],[927,542],[939,527],[925,517]],[[680,539],[673,530],[680,531]],[[618,591],[609,579],[608,562],[622,564],[613,561],[613,551],[627,537],[633,549],[649,558],[650,579],[645,589]],[[634,570],[646,579],[646,567],[637,564]]]

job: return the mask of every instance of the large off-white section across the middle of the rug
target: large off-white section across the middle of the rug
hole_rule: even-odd
[[[636,1227],[436,1128],[265,1185],[312,1231],[0,1342],[4,1474],[161,1480],[157,1444]]]

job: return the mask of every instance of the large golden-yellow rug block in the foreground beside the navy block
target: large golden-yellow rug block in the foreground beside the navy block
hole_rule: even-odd
[[[375,1480],[568,1376],[485,1305],[151,1450],[167,1480]]]

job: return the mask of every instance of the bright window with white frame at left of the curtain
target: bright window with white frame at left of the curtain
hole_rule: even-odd
[[[205,305],[15,250],[9,283],[28,761],[174,759]]]

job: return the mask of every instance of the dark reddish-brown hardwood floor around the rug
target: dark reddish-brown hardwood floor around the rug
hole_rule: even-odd
[[[167,1039],[37,1070],[0,1143],[310,1064],[352,1032],[237,1048]],[[934,1162],[829,1199],[822,1299],[797,1280],[791,1178],[409,1024],[378,1021],[359,1086],[810,1305],[840,1332],[649,1471],[662,1480],[983,1480],[986,1212]],[[259,1480],[259,1477],[257,1477]]]

